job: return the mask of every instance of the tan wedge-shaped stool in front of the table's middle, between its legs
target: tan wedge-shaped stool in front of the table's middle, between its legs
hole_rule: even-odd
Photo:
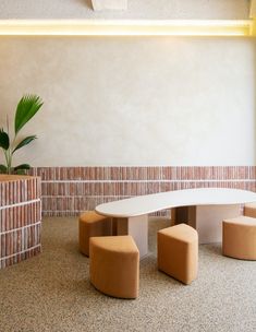
[[[158,232],[158,269],[184,284],[197,276],[198,234],[185,224]]]

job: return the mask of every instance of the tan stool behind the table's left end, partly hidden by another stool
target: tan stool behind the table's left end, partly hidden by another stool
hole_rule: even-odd
[[[112,235],[112,218],[88,211],[78,220],[80,251],[89,256],[89,238],[92,236]]]

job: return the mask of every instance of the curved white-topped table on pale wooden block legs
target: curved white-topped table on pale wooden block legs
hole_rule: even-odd
[[[241,203],[256,201],[256,193],[227,188],[199,188],[167,191],[96,206],[96,212],[117,218],[118,235],[130,234],[135,239],[141,257],[148,252],[148,214],[164,209],[176,209],[175,221],[197,229],[199,242],[221,241],[222,220],[240,214]]]

